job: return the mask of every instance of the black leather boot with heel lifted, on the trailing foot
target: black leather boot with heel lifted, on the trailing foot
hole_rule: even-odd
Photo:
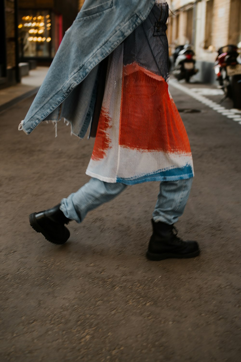
[[[31,227],[36,232],[41,232],[46,240],[54,244],[64,244],[70,237],[70,232],[65,227],[70,219],[66,218],[59,207],[60,204],[52,207],[52,209],[29,215]]]

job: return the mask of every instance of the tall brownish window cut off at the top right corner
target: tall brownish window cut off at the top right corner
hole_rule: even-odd
[[[241,42],[241,1],[231,0],[229,15],[229,44]]]

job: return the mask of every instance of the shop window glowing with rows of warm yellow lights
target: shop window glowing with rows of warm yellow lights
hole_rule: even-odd
[[[20,10],[21,58],[53,58],[62,39],[62,17],[49,10]]]

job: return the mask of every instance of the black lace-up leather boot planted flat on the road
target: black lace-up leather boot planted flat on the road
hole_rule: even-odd
[[[197,241],[183,241],[177,237],[177,230],[173,225],[160,221],[155,223],[153,219],[151,222],[153,233],[146,253],[148,259],[193,258],[199,255]]]

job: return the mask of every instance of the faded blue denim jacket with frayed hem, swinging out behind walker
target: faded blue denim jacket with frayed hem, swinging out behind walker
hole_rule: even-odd
[[[19,129],[62,117],[83,138],[96,101],[100,62],[149,15],[155,0],[85,0],[66,31],[50,69]]]

